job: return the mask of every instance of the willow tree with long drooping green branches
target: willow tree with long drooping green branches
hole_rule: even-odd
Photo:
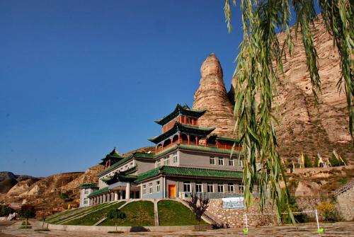
[[[275,116],[273,99],[277,94],[277,84],[282,76],[282,59],[285,49],[293,52],[293,38],[290,17],[295,15],[295,36],[301,33],[307,57],[307,69],[312,83],[315,101],[321,92],[319,64],[314,47],[312,28],[316,20],[313,0],[240,0],[243,40],[236,57],[235,107],[236,131],[241,137],[244,156],[244,185],[246,206],[252,200],[252,192],[258,185],[261,197],[261,209],[266,202],[266,190],[270,200],[278,207],[282,189],[280,181],[285,181],[285,172],[277,151],[275,135]],[[292,4],[293,11],[290,11]],[[353,81],[353,38],[354,16],[350,0],[319,0],[321,15],[326,30],[333,37],[333,47],[338,48],[341,57],[341,78],[338,81],[340,91],[346,93],[349,130],[353,137],[354,117],[354,81]],[[232,30],[232,5],[236,0],[224,1],[224,14],[229,32]],[[293,13],[292,13],[293,12]],[[294,17],[294,16],[292,16]],[[284,42],[280,42],[277,33],[284,32]],[[257,95],[257,96],[256,96]],[[256,99],[257,98],[257,99]],[[256,166],[256,163],[259,163]],[[286,184],[286,183],[285,183]],[[286,189],[287,200],[289,192]],[[289,207],[289,206],[287,206]],[[290,216],[291,210],[290,208]],[[293,218],[292,218],[293,219]]]

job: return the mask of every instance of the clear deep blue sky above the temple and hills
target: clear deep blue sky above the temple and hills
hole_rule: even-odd
[[[193,103],[215,52],[229,84],[241,41],[223,1],[0,1],[0,170],[84,171]]]

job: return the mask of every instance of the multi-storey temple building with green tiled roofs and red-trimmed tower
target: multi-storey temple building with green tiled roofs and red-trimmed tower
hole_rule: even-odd
[[[169,115],[156,120],[162,132],[149,139],[155,144],[154,151],[123,156],[113,149],[102,159],[105,169],[98,173],[98,190],[81,185],[80,205],[184,198],[191,192],[209,197],[242,193],[239,141],[212,134],[215,127],[198,126],[205,111],[178,104]]]

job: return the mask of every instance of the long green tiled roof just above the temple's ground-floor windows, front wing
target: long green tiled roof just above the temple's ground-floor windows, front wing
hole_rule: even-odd
[[[183,176],[183,177],[201,177],[201,178],[232,178],[241,179],[242,172],[230,171],[230,170],[211,170],[205,168],[185,168],[185,167],[175,167],[175,166],[161,166],[159,168],[154,168],[146,173],[142,173],[137,176],[136,183],[147,178],[152,178],[156,175],[171,175],[171,176]]]

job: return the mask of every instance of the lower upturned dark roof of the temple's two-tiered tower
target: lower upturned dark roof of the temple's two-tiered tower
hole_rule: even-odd
[[[175,122],[175,124],[171,129],[169,129],[169,131],[164,132],[159,136],[149,138],[148,140],[154,142],[155,144],[158,144],[160,141],[164,141],[164,139],[171,137],[173,134],[176,134],[177,132],[207,136],[207,134],[210,134],[210,132],[212,132],[214,129],[215,127],[198,127],[192,125],[183,125],[180,122]]]

